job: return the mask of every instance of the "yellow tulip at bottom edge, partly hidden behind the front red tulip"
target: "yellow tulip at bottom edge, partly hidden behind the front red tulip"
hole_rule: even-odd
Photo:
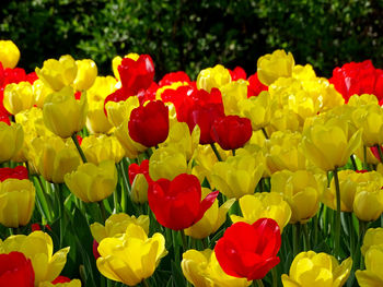
[[[181,267],[186,279],[196,287],[246,287],[252,284],[246,278],[237,278],[224,273],[211,249],[187,250],[183,254]]]

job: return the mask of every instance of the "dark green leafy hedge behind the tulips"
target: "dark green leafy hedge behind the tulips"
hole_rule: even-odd
[[[27,72],[70,53],[106,75],[115,56],[138,52],[152,56],[155,80],[217,63],[251,74],[282,48],[329,77],[349,61],[383,68],[383,0],[2,0],[0,38],[19,46]]]

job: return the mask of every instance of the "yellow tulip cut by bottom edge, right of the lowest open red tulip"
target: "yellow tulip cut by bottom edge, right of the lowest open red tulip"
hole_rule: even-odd
[[[301,252],[290,266],[290,275],[282,275],[282,284],[283,287],[341,287],[351,268],[351,258],[339,265],[333,255],[314,251]]]

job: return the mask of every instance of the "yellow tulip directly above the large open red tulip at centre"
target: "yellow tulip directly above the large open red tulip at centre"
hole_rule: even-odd
[[[149,175],[154,181],[160,178],[173,180],[181,174],[187,174],[186,157],[183,153],[170,147],[160,147],[149,159]]]

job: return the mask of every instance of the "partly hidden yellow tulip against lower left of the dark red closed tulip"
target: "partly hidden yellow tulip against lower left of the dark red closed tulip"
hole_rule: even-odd
[[[129,158],[136,158],[139,153],[147,150],[142,144],[131,140],[129,135],[128,119],[125,119],[114,131],[114,135],[125,150],[125,155]]]

